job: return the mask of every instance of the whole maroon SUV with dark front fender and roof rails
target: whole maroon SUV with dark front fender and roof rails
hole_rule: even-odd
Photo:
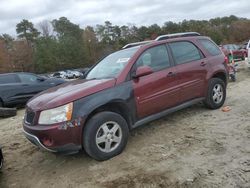
[[[226,98],[224,54],[190,33],[134,43],[96,64],[85,79],[49,89],[27,104],[23,129],[51,152],[84,149],[96,160],[120,154],[129,130],[203,101]]]

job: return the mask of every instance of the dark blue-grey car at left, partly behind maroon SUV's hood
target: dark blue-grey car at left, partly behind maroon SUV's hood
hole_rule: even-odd
[[[0,106],[23,105],[35,94],[64,82],[32,73],[0,74]]]

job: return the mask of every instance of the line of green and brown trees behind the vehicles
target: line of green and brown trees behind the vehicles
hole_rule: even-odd
[[[16,25],[16,39],[0,35],[0,72],[46,73],[89,67],[127,43],[188,31],[209,36],[217,44],[241,43],[250,39],[250,20],[232,15],[179,23],[167,21],[162,26],[118,26],[106,21],[103,25],[80,28],[66,17],[43,21],[36,27],[24,19]]]

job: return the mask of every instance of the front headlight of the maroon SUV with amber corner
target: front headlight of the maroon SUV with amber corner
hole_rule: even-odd
[[[71,120],[73,103],[69,103],[57,108],[44,110],[40,113],[39,124],[54,124]]]

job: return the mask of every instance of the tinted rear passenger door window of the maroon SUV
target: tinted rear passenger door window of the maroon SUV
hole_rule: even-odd
[[[169,43],[176,64],[196,61],[203,58],[200,50],[191,42],[180,41]]]

